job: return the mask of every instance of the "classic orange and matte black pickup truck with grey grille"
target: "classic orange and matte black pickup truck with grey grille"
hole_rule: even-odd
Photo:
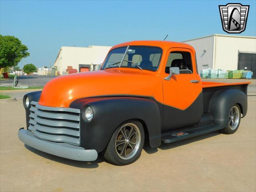
[[[98,71],[56,77],[24,96],[22,142],[56,156],[117,165],[152,148],[220,130],[247,112],[250,82],[202,82],[192,46],[132,41],[111,48]]]

